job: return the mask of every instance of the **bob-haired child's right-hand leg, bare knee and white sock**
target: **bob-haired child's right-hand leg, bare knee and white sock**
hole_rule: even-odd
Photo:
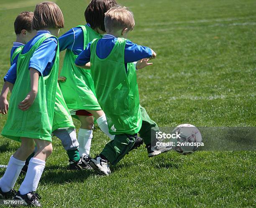
[[[35,139],[35,142],[37,146],[36,154],[29,161],[27,174],[20,185],[19,191],[21,195],[36,191],[44,171],[45,161],[52,153],[50,141]]]

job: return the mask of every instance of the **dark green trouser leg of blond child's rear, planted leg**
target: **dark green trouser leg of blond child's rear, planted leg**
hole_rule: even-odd
[[[105,145],[100,155],[103,155],[112,165],[116,165],[131,150],[136,138],[137,134],[115,135],[114,140]]]

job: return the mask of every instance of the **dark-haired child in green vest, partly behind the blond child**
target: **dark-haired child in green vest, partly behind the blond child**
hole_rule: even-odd
[[[90,70],[76,67],[74,61],[89,42],[105,33],[104,14],[114,6],[117,6],[115,0],[92,0],[84,12],[87,24],[72,28],[59,38],[60,51],[66,50],[59,85],[71,115],[81,122],[77,139],[80,156],[86,161],[90,154],[94,118],[111,140],[114,135],[108,132],[105,113],[95,96]]]

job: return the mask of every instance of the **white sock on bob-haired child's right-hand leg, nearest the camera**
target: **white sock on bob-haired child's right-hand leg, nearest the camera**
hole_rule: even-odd
[[[45,161],[37,158],[31,158],[28,164],[28,171],[23,182],[20,185],[20,194],[26,194],[36,191],[39,180],[44,171]]]

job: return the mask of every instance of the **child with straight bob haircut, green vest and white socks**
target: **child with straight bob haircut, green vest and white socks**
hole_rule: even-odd
[[[17,79],[2,131],[5,137],[21,141],[21,146],[11,156],[0,179],[0,196],[11,198],[15,193],[15,182],[36,143],[36,154],[29,162],[26,176],[14,199],[22,200],[24,205],[41,206],[35,191],[45,161],[52,152],[51,132],[59,68],[59,46],[55,36],[64,27],[61,10],[55,3],[39,3],[34,11],[32,26],[38,32],[18,57]]]

